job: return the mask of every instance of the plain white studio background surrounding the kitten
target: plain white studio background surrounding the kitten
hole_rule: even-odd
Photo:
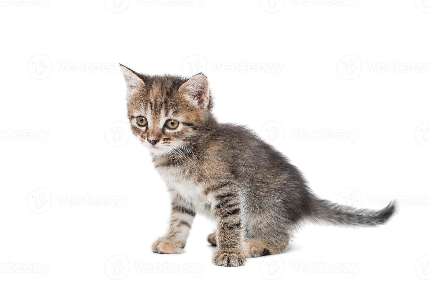
[[[427,284],[428,1],[0,4],[2,285]],[[320,197],[396,197],[398,214],[304,226],[240,268],[211,265],[204,217],[183,254],[151,253],[169,200],[124,123],[118,62],[205,72],[218,119],[260,132]]]

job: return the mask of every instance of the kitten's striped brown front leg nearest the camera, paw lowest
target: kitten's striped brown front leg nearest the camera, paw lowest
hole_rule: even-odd
[[[218,220],[216,244],[218,250],[212,262],[220,266],[241,266],[246,261],[241,206],[238,192],[218,190],[215,195],[214,213]]]

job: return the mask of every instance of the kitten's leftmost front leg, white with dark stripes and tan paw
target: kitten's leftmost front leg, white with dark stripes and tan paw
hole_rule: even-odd
[[[176,195],[171,202],[170,225],[166,235],[152,244],[155,253],[181,253],[186,244],[195,211]]]

